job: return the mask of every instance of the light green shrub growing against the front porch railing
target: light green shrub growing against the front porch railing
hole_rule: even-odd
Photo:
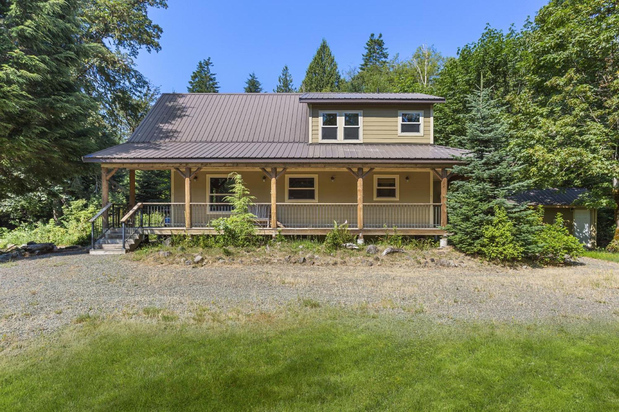
[[[232,195],[224,200],[232,204],[232,214],[212,221],[213,228],[219,234],[215,241],[219,246],[252,246],[258,242],[256,216],[249,213],[255,198],[249,195],[240,174],[230,173],[230,177],[234,180]]]

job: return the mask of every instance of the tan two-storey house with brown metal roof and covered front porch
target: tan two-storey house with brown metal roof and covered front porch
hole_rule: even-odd
[[[145,234],[213,234],[231,207],[232,172],[256,197],[260,233],[326,234],[347,221],[360,239],[397,227],[444,235],[454,156],[434,144],[420,93],[166,93],[126,143],[84,156],[102,166],[93,249],[132,249]],[[129,170],[129,204],[108,202]],[[139,203],[136,170],[170,170],[171,199]]]

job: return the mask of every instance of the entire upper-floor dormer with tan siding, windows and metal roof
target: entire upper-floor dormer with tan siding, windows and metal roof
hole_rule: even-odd
[[[422,93],[305,93],[309,143],[434,143],[434,105]]]

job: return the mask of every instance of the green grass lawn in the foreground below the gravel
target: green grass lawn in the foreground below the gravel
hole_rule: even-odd
[[[0,358],[0,410],[618,410],[619,327],[308,309],[87,321]]]

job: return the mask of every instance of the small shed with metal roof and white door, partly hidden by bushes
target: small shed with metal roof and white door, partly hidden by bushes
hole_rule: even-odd
[[[585,247],[597,245],[597,209],[578,205],[587,189],[533,189],[511,197],[519,203],[541,205],[544,223],[553,223],[556,213],[561,213],[569,233]]]

